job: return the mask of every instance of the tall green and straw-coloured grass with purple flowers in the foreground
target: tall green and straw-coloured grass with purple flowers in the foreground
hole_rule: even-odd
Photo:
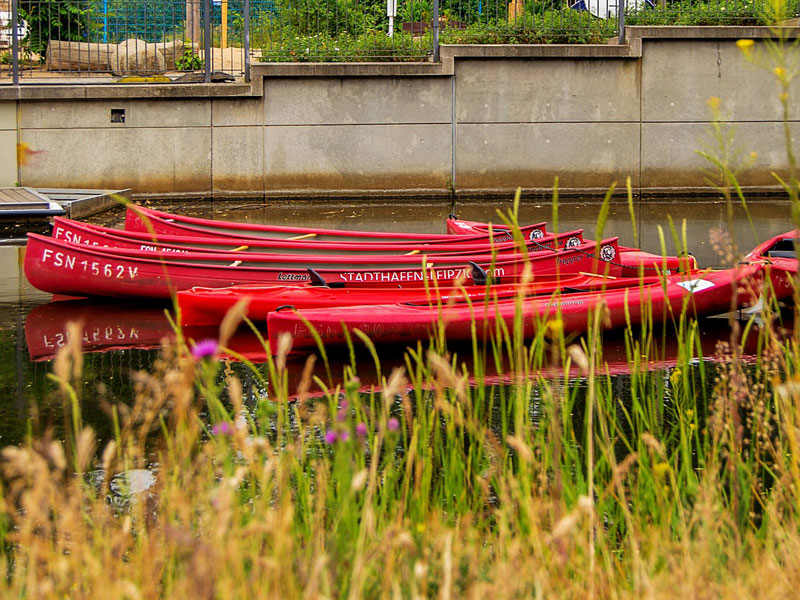
[[[368,345],[223,369],[179,337],[102,447],[63,349],[68,441],[2,454],[2,595],[790,594],[800,348],[780,321],[732,322],[710,362],[679,315],[616,334],[621,358],[599,315],[582,339],[521,321],[391,366]],[[148,466],[120,503],[111,481]]]

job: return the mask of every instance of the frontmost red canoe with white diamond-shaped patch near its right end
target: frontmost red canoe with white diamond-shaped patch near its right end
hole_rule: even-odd
[[[644,314],[653,322],[680,314],[684,306],[696,315],[726,312],[757,299],[763,283],[762,264],[743,265],[722,271],[694,271],[669,275],[663,281],[602,290],[570,290],[528,296],[521,300],[524,335],[532,335],[548,322],[559,320],[565,332],[582,332],[590,315],[601,305],[607,309],[603,327],[638,324]],[[737,290],[739,292],[737,293]],[[293,348],[316,345],[307,325],[316,330],[325,345],[343,344],[345,330],[358,329],[375,343],[410,342],[427,339],[441,322],[449,341],[472,339],[473,326],[484,337],[495,331],[498,321],[513,322],[516,299],[490,302],[458,302],[448,306],[430,303],[350,306],[270,313],[267,330],[275,350],[283,334],[293,338]],[[358,340],[353,336],[352,339]]]

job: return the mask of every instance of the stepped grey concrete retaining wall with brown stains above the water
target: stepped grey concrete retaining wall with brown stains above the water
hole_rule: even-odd
[[[630,28],[625,46],[445,46],[441,64],[256,65],[252,84],[0,87],[0,185],[137,195],[643,194],[708,190],[721,99],[754,190],[785,175],[763,28]],[[757,43],[757,46],[759,44]],[[791,115],[797,98],[790,94]],[[17,111],[19,106],[19,111]],[[112,123],[112,109],[125,111]],[[18,116],[17,116],[18,115]],[[792,131],[798,122],[790,122]],[[753,152],[752,156],[750,153]],[[10,156],[10,155],[9,155]]]

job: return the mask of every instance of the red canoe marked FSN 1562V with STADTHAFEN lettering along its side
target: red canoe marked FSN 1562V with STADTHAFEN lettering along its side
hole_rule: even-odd
[[[575,248],[512,254],[495,260],[491,255],[423,256],[282,256],[256,253],[180,252],[101,248],[69,244],[28,234],[25,275],[36,288],[69,296],[168,298],[194,286],[227,287],[243,283],[286,284],[310,281],[313,268],[325,282],[347,286],[386,288],[421,286],[426,277],[439,282],[468,277],[470,261],[504,282],[519,279],[529,263],[534,274],[605,273],[618,276],[617,240],[599,245],[587,242]],[[600,259],[595,258],[597,252]]]

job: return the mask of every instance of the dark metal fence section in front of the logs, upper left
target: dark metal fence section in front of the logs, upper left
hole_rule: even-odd
[[[247,77],[252,6],[272,0],[8,0],[0,83]],[[0,5],[2,6],[2,5]],[[13,25],[16,23],[16,27]],[[5,80],[5,81],[4,81]]]

